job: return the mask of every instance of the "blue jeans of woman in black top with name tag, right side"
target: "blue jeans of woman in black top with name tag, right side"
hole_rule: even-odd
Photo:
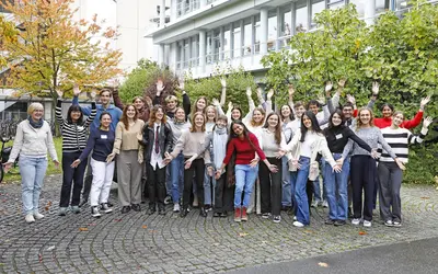
[[[335,160],[342,158],[342,153],[333,153]],[[342,172],[336,173],[330,164],[325,164],[324,183],[328,202],[328,218],[332,220],[346,220],[348,217],[348,174],[349,159],[345,159]]]

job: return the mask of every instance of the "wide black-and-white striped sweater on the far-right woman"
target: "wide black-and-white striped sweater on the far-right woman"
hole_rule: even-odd
[[[406,128],[385,127],[381,129],[384,140],[392,148],[392,151],[397,156],[400,161],[403,163],[407,162],[408,157],[408,145],[410,144],[420,144],[427,134],[427,128],[422,128],[419,135],[412,134]],[[393,162],[394,160],[388,155],[387,150],[382,150],[382,156],[379,159],[382,162]]]

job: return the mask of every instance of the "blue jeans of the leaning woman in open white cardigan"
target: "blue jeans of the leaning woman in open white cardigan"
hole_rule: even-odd
[[[309,178],[310,158],[300,156],[299,164],[301,165],[297,172],[297,184],[295,198],[297,199],[297,220],[303,225],[310,224],[308,194],[306,185]]]

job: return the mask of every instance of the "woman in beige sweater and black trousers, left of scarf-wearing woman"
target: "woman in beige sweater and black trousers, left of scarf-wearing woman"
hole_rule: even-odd
[[[181,151],[184,156],[184,194],[183,210],[180,214],[181,217],[187,216],[188,213],[194,173],[197,186],[197,197],[200,206],[199,215],[207,217],[207,212],[204,207],[204,173],[206,164],[210,164],[210,153],[208,149],[203,153],[199,153],[199,148],[205,147],[207,137],[205,123],[205,115],[200,112],[195,113],[192,117],[192,128],[183,132],[181,138],[176,142],[175,149],[165,159],[166,162],[172,161]]]

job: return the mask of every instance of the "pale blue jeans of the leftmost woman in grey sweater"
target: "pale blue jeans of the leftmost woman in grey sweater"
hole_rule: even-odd
[[[37,213],[39,194],[47,170],[47,158],[20,156],[19,164],[24,214]]]

